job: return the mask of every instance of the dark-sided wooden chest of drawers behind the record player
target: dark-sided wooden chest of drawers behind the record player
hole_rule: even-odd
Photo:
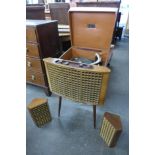
[[[26,20],[26,82],[51,95],[42,59],[60,55],[57,21]]]

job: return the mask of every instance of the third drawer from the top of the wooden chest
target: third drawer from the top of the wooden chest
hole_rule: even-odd
[[[35,58],[26,58],[26,68],[42,72],[41,60]]]

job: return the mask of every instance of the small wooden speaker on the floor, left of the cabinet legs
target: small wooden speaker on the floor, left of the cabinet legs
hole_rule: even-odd
[[[28,104],[27,108],[37,127],[41,127],[52,120],[47,99],[35,98]]]

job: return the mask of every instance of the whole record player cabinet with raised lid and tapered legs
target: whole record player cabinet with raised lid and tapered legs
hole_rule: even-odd
[[[71,48],[60,58],[44,59],[50,90],[76,102],[103,105],[110,69],[110,45],[117,10],[82,8],[69,10]],[[59,100],[59,115],[61,97]]]

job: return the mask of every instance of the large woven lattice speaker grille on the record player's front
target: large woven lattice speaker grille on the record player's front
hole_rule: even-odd
[[[52,92],[77,102],[98,104],[103,73],[47,63]]]

